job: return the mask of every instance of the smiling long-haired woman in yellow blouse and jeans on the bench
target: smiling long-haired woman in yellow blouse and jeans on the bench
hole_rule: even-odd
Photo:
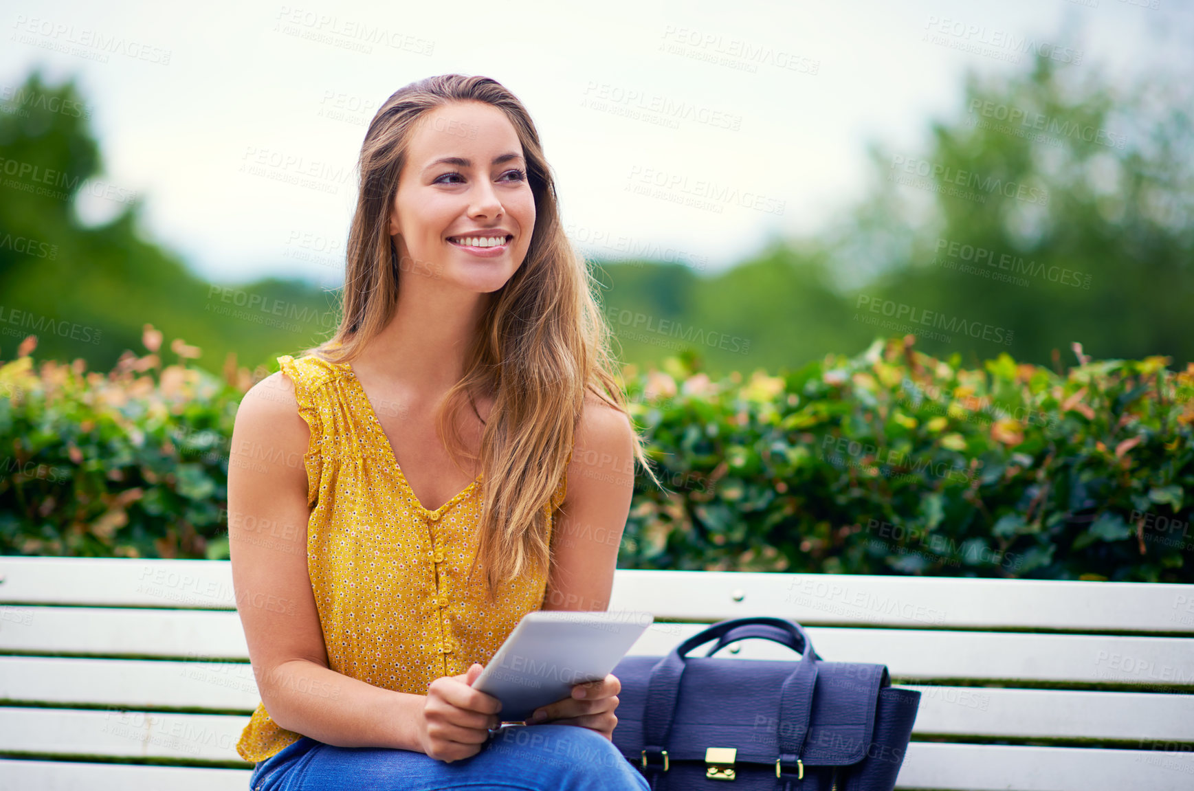
[[[646,461],[535,125],[494,80],[430,78],[359,171],[341,322],[233,431],[252,787],[646,789],[614,675],[500,730],[469,686],[525,613],[608,607]]]

